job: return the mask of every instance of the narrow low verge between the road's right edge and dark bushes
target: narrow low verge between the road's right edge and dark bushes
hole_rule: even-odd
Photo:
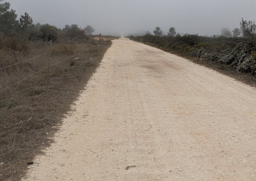
[[[189,59],[189,60],[191,60],[195,63],[204,65],[206,67],[209,67],[210,69],[218,71],[219,73],[221,73],[223,75],[232,77],[232,78],[234,78],[238,81],[241,81],[241,82],[246,83],[250,86],[256,87],[256,76],[250,74],[249,72],[237,71],[237,67],[234,66],[234,64],[225,64],[223,62],[216,61],[216,60],[212,61],[212,60],[207,59],[207,57],[206,58],[205,57],[196,57],[196,56],[193,55],[193,51],[197,50],[197,49],[195,49],[192,46],[187,46],[187,44],[182,44],[182,46],[184,46],[185,48],[183,47],[183,48],[175,49],[175,48],[167,47],[166,44],[168,44],[168,42],[162,42],[161,43],[161,41],[158,41],[157,43],[154,43],[154,42],[145,41],[142,38],[132,37],[130,39],[134,40],[134,41],[137,41],[137,42],[142,42],[142,43],[147,44],[147,45],[152,46],[152,47],[156,47],[156,48],[161,49],[165,52],[169,52],[169,53],[184,57],[184,58]],[[207,43],[208,42],[206,42],[206,44]],[[220,47],[221,46],[223,46],[223,47],[228,46],[227,43],[226,44],[225,43],[226,42],[224,42],[224,43],[222,42],[219,45],[217,44],[216,47],[218,47],[218,46],[220,46]],[[214,55],[214,52],[210,52],[210,53],[212,55]],[[225,56],[225,54],[223,56]]]

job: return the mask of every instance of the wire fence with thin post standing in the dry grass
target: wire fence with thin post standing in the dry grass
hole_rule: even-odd
[[[50,46],[51,46],[51,44],[52,44],[52,43],[50,43]],[[70,50],[70,49],[78,48],[78,47],[81,47],[81,46],[83,46],[83,45],[85,45],[85,44],[86,44],[86,43],[83,43],[83,44],[80,44],[79,46],[76,46],[76,47],[71,47],[71,48],[68,48],[68,49],[62,49],[62,50],[57,50],[57,51],[52,51],[52,48],[51,48],[51,49],[50,49],[50,52],[47,52],[47,53],[44,53],[44,54],[40,54],[40,55],[37,55],[37,56],[35,56],[35,57],[29,58],[29,59],[27,59],[27,60],[23,60],[23,61],[20,61],[20,62],[11,64],[11,65],[2,67],[2,68],[0,68],[0,70],[7,69],[8,67],[11,67],[11,66],[14,66],[14,65],[17,65],[17,64],[20,64],[20,63],[29,61],[29,60],[33,60],[33,59],[35,59],[35,58],[38,58],[38,57],[41,57],[41,56],[44,56],[44,55],[47,55],[47,54],[50,54],[50,57],[49,57],[49,61],[50,61],[50,59],[51,59],[51,53],[54,53],[54,52],[61,52],[61,51],[65,51],[65,50]],[[78,54],[79,54],[79,53],[78,53]],[[47,68],[49,69],[50,66],[53,66],[53,65],[56,65],[56,64],[58,64],[58,63],[60,63],[60,62],[69,60],[69,59],[71,59],[71,58],[74,58],[74,57],[77,56],[78,54],[75,54],[75,55],[73,55],[73,56],[71,56],[71,57],[68,57],[68,58],[66,58],[66,59],[64,59],[64,60],[61,60],[61,61],[56,62],[56,63],[53,63],[53,64],[50,64],[50,62],[49,62],[48,66],[44,67],[43,69],[41,69],[41,70],[39,70],[39,71],[33,73],[32,75],[30,75],[30,76],[28,76],[28,77],[26,77],[26,78],[24,78],[24,79],[22,79],[22,80],[19,80],[18,82],[15,82],[14,84],[12,84],[12,85],[10,85],[10,86],[8,86],[8,87],[6,87],[6,88],[0,90],[0,93],[4,92],[5,90],[7,90],[8,88],[11,88],[11,87],[14,86],[14,85],[17,85],[17,84],[20,83],[20,82],[23,82],[23,81],[27,80],[28,78],[30,78],[30,77],[32,77],[32,76],[38,74],[39,72],[41,72],[41,71],[43,71],[43,70],[46,70]],[[95,58],[95,59],[97,59],[97,58]],[[95,59],[93,59],[93,60],[95,60]],[[48,72],[48,74],[49,74],[49,72]],[[49,75],[48,75],[48,77],[49,77]]]

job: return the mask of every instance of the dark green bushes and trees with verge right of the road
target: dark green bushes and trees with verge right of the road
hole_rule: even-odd
[[[242,18],[240,28],[232,32],[223,28],[221,35],[211,37],[180,34],[171,27],[167,35],[156,27],[154,35],[130,36],[164,51],[204,64],[225,75],[256,86],[256,25]]]

